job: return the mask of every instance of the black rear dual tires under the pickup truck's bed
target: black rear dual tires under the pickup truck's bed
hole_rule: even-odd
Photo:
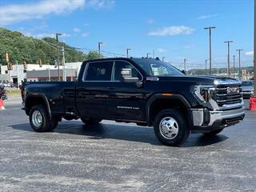
[[[35,123],[33,121],[33,114],[39,113],[42,117],[41,123]],[[49,114],[46,108],[42,105],[32,106],[30,110],[30,126],[36,132],[46,132],[54,130],[58,126],[58,120],[53,118],[50,120]]]

